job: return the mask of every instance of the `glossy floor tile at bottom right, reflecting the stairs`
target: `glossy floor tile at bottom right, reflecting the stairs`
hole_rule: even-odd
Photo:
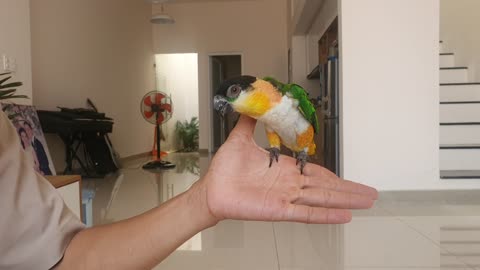
[[[384,193],[382,207],[455,258],[480,269],[480,194],[476,191]]]

